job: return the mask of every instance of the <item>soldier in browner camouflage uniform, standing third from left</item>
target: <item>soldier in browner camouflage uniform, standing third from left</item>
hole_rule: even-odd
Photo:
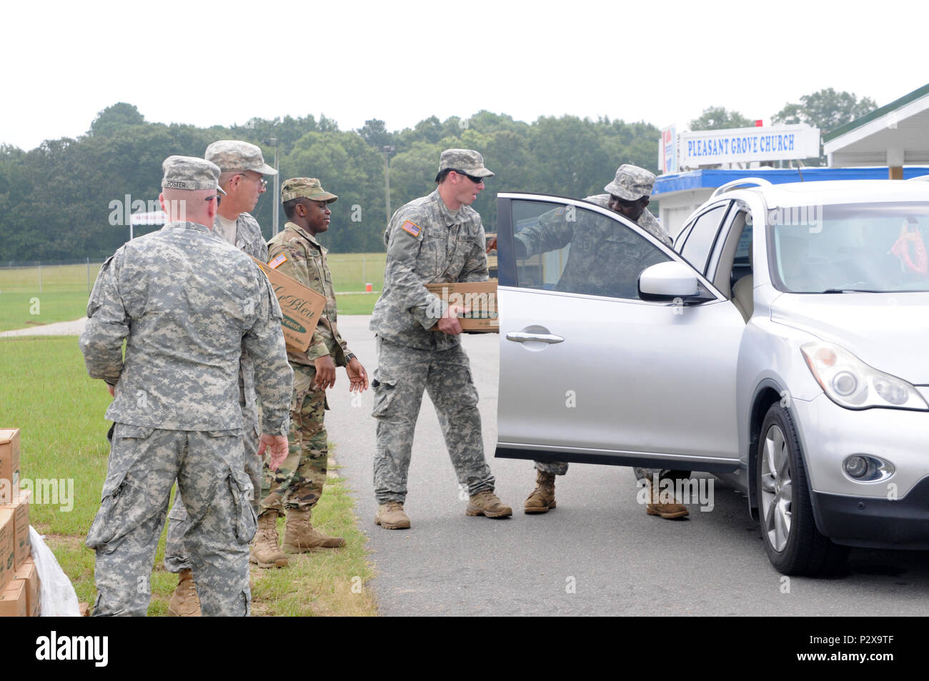
[[[291,400],[290,453],[277,471],[265,469],[258,516],[258,539],[252,560],[270,567],[278,546],[277,518],[286,513],[284,550],[291,553],[315,547],[344,546],[342,537],[329,537],[312,525],[313,506],[320,501],[326,481],[329,436],[323,426],[326,388],[334,386],[335,367],[346,367],[349,391],[368,388],[368,373],[339,334],[336,325],[333,277],[326,263],[327,250],[317,235],[329,229],[329,204],[338,199],[322,189],[315,177],[293,177],[281,185],[281,202],[287,224],[268,242],[269,266],[326,297],[306,352],[288,348],[294,369]]]

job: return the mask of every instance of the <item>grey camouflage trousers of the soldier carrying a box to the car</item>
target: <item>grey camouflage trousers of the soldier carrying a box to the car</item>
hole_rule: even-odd
[[[406,499],[412,437],[424,389],[436,405],[438,423],[459,484],[472,495],[492,491],[494,478],[484,459],[478,390],[464,348],[405,347],[380,336],[376,343],[372,415],[377,419],[374,495],[378,503],[402,503]]]

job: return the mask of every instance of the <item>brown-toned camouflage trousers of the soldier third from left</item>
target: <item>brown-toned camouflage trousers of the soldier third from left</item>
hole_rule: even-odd
[[[307,511],[320,501],[326,483],[329,434],[322,425],[326,391],[313,388],[316,368],[291,364],[294,368],[294,395],[291,398],[291,425],[287,433],[290,449],[284,463],[272,471],[264,467],[259,513],[287,508]]]

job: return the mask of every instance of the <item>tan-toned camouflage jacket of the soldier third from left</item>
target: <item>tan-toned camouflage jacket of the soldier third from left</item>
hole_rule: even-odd
[[[268,242],[268,258],[273,260],[279,255],[284,258],[275,267],[277,271],[326,296],[326,307],[320,314],[307,351],[287,351],[287,358],[295,364],[312,365],[313,360],[331,355],[335,366],[345,366],[346,355],[350,352],[336,324],[335,289],[333,275],[326,263],[327,253],[329,251],[312,234],[293,222],[284,225],[284,229]]]

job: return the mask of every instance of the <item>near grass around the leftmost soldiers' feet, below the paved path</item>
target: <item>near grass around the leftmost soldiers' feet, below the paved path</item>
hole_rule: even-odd
[[[30,521],[46,535],[79,600],[92,603],[94,553],[84,540],[106,477],[110,423],[103,414],[110,395],[102,382],[87,377],[76,336],[0,338],[0,375],[0,427],[20,428],[20,477],[59,481],[55,504],[36,499],[33,491]],[[347,546],[294,556],[283,570],[255,568],[254,614],[376,614],[365,587],[373,571],[345,480],[331,478],[314,521],[344,536]],[[150,615],[167,613],[177,584],[177,577],[164,571],[163,557],[164,532],[151,576]]]

